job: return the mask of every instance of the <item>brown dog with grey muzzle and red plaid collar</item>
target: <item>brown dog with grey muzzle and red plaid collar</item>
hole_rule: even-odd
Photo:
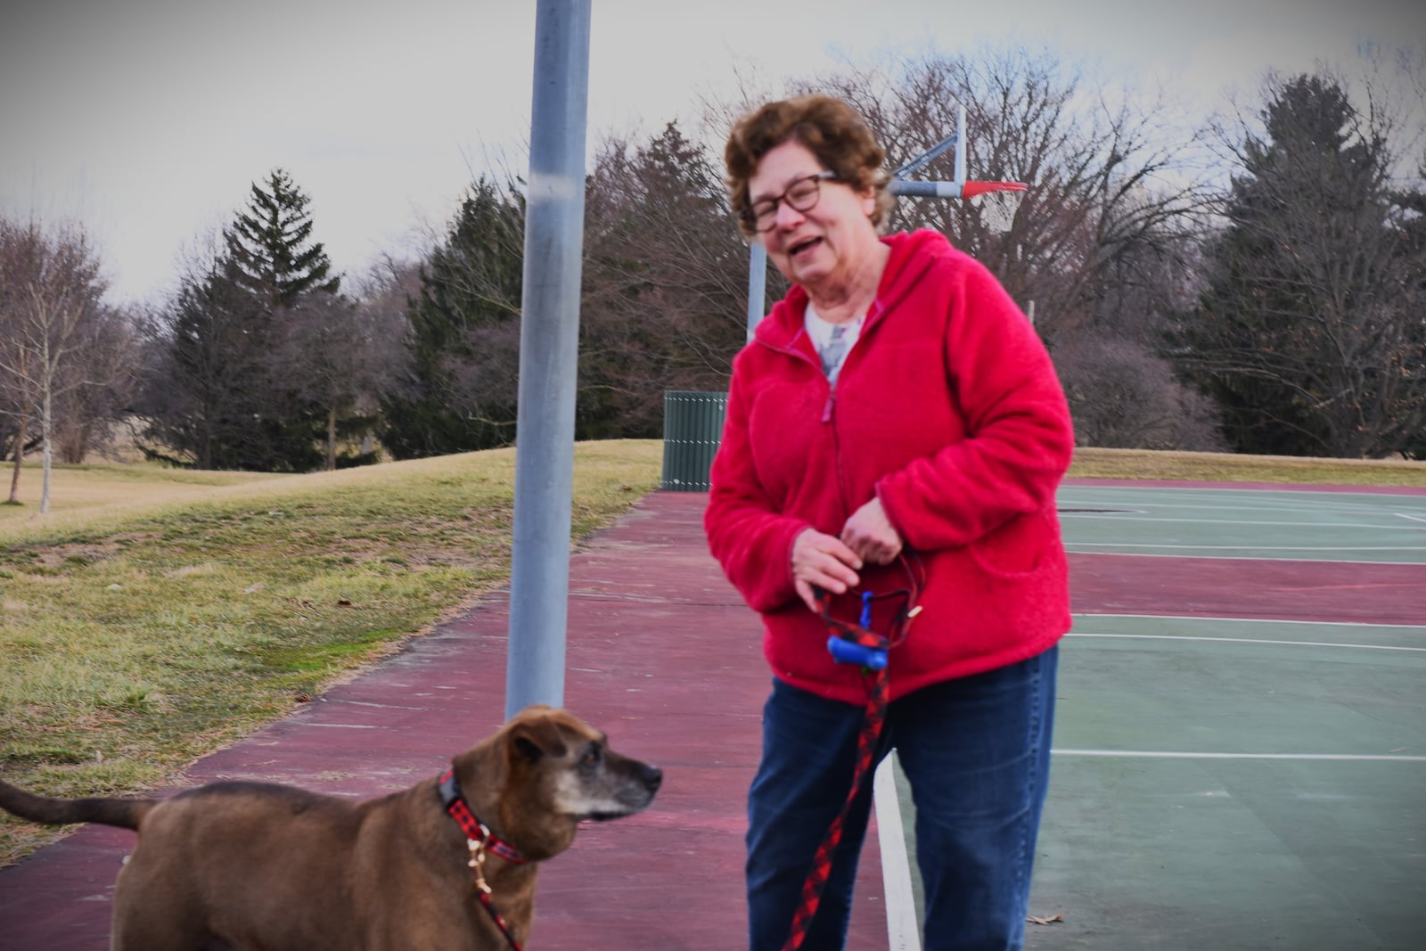
[[[536,863],[580,820],[632,816],[662,781],[572,713],[529,707],[445,776],[366,801],[261,783],[60,800],[0,781],[0,807],[138,833],[113,951],[481,951],[525,942]]]

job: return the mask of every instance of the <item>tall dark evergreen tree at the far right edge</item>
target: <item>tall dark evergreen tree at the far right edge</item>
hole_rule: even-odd
[[[1241,452],[1400,451],[1426,398],[1392,155],[1332,78],[1279,83],[1246,135],[1179,366]]]

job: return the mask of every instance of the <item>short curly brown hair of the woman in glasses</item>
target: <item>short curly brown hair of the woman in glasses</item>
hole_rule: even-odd
[[[891,212],[891,177],[881,168],[886,150],[877,144],[866,120],[840,98],[799,96],[767,103],[733,124],[723,163],[727,165],[727,192],[737,215],[737,227],[753,237],[747,183],[763,155],[786,141],[796,140],[827,170],[854,191],[874,188],[877,207],[871,224],[880,230]]]

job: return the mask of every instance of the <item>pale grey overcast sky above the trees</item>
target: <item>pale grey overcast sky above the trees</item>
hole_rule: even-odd
[[[593,0],[592,16],[590,144],[692,124],[739,73],[896,51],[1014,38],[1206,110],[1268,67],[1426,43],[1420,0]],[[116,299],[140,299],[281,165],[335,267],[359,271],[443,225],[489,157],[525,171],[533,38],[533,0],[11,0],[0,212],[78,220]]]

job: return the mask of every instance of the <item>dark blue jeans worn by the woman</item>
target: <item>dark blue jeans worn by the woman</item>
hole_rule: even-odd
[[[1030,871],[1050,780],[1058,647],[907,694],[887,711],[877,761],[897,750],[915,803],[925,951],[1011,951],[1025,934]],[[863,707],[773,680],[763,760],[749,791],[753,951],[787,941],[813,855],[851,788]],[[870,777],[853,804],[803,951],[847,940]]]

